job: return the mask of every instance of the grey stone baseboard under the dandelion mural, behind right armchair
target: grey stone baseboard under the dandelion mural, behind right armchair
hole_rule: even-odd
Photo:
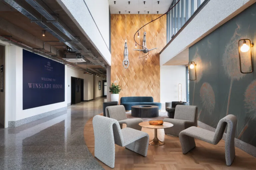
[[[197,125],[200,127],[200,128],[204,128],[204,129],[207,129],[207,130],[210,130],[210,131],[214,131],[215,132],[215,128],[203,123],[203,122],[200,122],[200,121],[197,121]],[[223,134],[223,137],[222,139],[225,140],[225,137],[226,137],[226,133]],[[250,155],[256,157],[256,147],[253,146],[253,145],[250,145],[240,139],[237,139],[235,138],[235,146],[238,147],[239,149],[245,151],[246,153],[249,153]]]

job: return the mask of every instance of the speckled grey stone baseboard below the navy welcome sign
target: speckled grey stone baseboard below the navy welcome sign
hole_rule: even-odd
[[[59,112],[65,111],[65,110],[67,110],[67,107],[52,110],[50,112],[45,112],[45,113],[42,113],[42,114],[39,114],[39,115],[35,115],[35,116],[31,116],[31,117],[28,117],[28,118],[25,118],[25,119],[21,119],[21,120],[18,120],[18,121],[9,121],[8,122],[8,127],[18,127],[18,126],[36,121],[38,119],[45,118],[47,116],[50,116],[50,115],[53,115],[55,113],[59,113]]]

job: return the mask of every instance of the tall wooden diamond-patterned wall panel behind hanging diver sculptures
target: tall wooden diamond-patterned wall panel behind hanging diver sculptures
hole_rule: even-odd
[[[151,19],[160,15],[140,15],[140,27]],[[146,26],[147,48],[152,50],[147,57],[139,58],[144,53],[134,51],[133,36],[139,28],[138,14],[126,15],[126,38],[129,51],[130,65],[123,67],[123,53],[125,40],[125,15],[111,14],[111,82],[116,81],[122,87],[119,97],[125,96],[152,96],[155,102],[160,102],[160,63],[159,52],[166,45],[166,16]],[[140,30],[140,44],[142,44],[144,28]],[[137,35],[135,36],[138,40]],[[137,45],[137,48],[140,48]]]

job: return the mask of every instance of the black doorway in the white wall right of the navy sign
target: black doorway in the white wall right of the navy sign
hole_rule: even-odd
[[[84,101],[84,79],[71,77],[71,105]]]

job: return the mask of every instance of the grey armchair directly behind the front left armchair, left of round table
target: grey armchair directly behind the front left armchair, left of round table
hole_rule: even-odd
[[[127,119],[125,108],[123,105],[106,107],[106,117],[117,120],[120,124],[120,128],[123,127],[122,124],[126,124],[127,128],[133,128],[137,130],[141,130],[142,128],[141,126],[139,126],[139,123],[142,122],[142,119]]]

